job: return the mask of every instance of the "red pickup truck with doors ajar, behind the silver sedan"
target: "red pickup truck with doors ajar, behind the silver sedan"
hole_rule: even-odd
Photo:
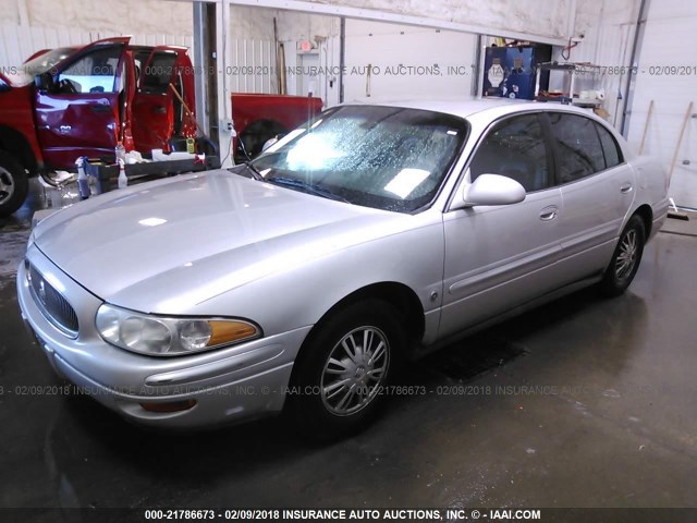
[[[0,216],[22,206],[28,178],[74,170],[80,156],[113,157],[119,142],[126,150],[169,151],[195,137],[195,115],[170,87],[194,111],[195,73],[186,48],[133,46],[130,37],[42,50],[1,70]],[[319,112],[321,100],[234,94],[232,106],[235,156],[240,142],[254,156]]]

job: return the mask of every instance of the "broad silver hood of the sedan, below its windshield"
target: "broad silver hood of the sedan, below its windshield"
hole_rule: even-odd
[[[408,218],[219,170],[90,198],[41,221],[34,235],[53,264],[102,300],[178,314],[392,234]]]

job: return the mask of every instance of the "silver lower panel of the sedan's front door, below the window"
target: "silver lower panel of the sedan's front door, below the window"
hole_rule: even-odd
[[[481,206],[444,217],[445,266],[440,336],[514,308],[562,284],[559,188],[510,206]],[[547,218],[547,219],[546,219]]]

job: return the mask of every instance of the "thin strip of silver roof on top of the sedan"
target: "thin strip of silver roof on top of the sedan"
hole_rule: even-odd
[[[353,102],[345,102],[344,105],[352,104],[369,104],[375,106],[389,106],[389,107],[403,107],[408,109],[423,109],[426,111],[443,112],[447,114],[453,114],[455,117],[467,118],[478,112],[498,109],[497,112],[516,112],[521,109],[527,110],[554,110],[554,111],[567,111],[582,114],[588,114],[584,109],[562,105],[558,102],[542,102],[533,100],[519,100],[511,98],[500,97],[457,97],[457,98],[438,98],[438,99],[357,99]],[[506,110],[506,109],[510,109]]]

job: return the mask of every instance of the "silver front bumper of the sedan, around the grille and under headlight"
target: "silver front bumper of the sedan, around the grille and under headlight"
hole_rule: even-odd
[[[44,316],[17,269],[22,316],[53,368],[83,392],[130,419],[162,427],[198,427],[241,422],[282,410],[293,362],[310,327],[181,357],[134,354],[106,343],[95,328],[102,301],[56,267],[36,246],[28,260],[74,307],[80,333],[71,339]],[[178,412],[143,404],[193,400]]]

